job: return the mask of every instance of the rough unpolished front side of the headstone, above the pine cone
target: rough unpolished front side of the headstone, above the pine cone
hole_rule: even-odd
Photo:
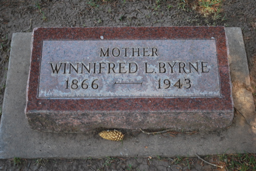
[[[118,116],[117,116],[118,115]],[[129,112],[89,112],[89,113],[28,113],[27,118],[32,130],[44,132],[88,133],[95,130],[163,130],[175,131],[214,131],[228,127],[233,120],[234,111],[219,112],[176,112],[176,113],[129,113]],[[70,118],[76,116],[76,121]],[[140,116],[138,121],[137,116]],[[99,122],[100,118],[103,118]],[[155,118],[158,118],[157,120]],[[86,121],[90,121],[87,125]],[[155,122],[154,122],[155,121]],[[95,122],[95,123],[94,123]],[[92,124],[94,123],[94,124]],[[113,126],[114,125],[114,126]]]

